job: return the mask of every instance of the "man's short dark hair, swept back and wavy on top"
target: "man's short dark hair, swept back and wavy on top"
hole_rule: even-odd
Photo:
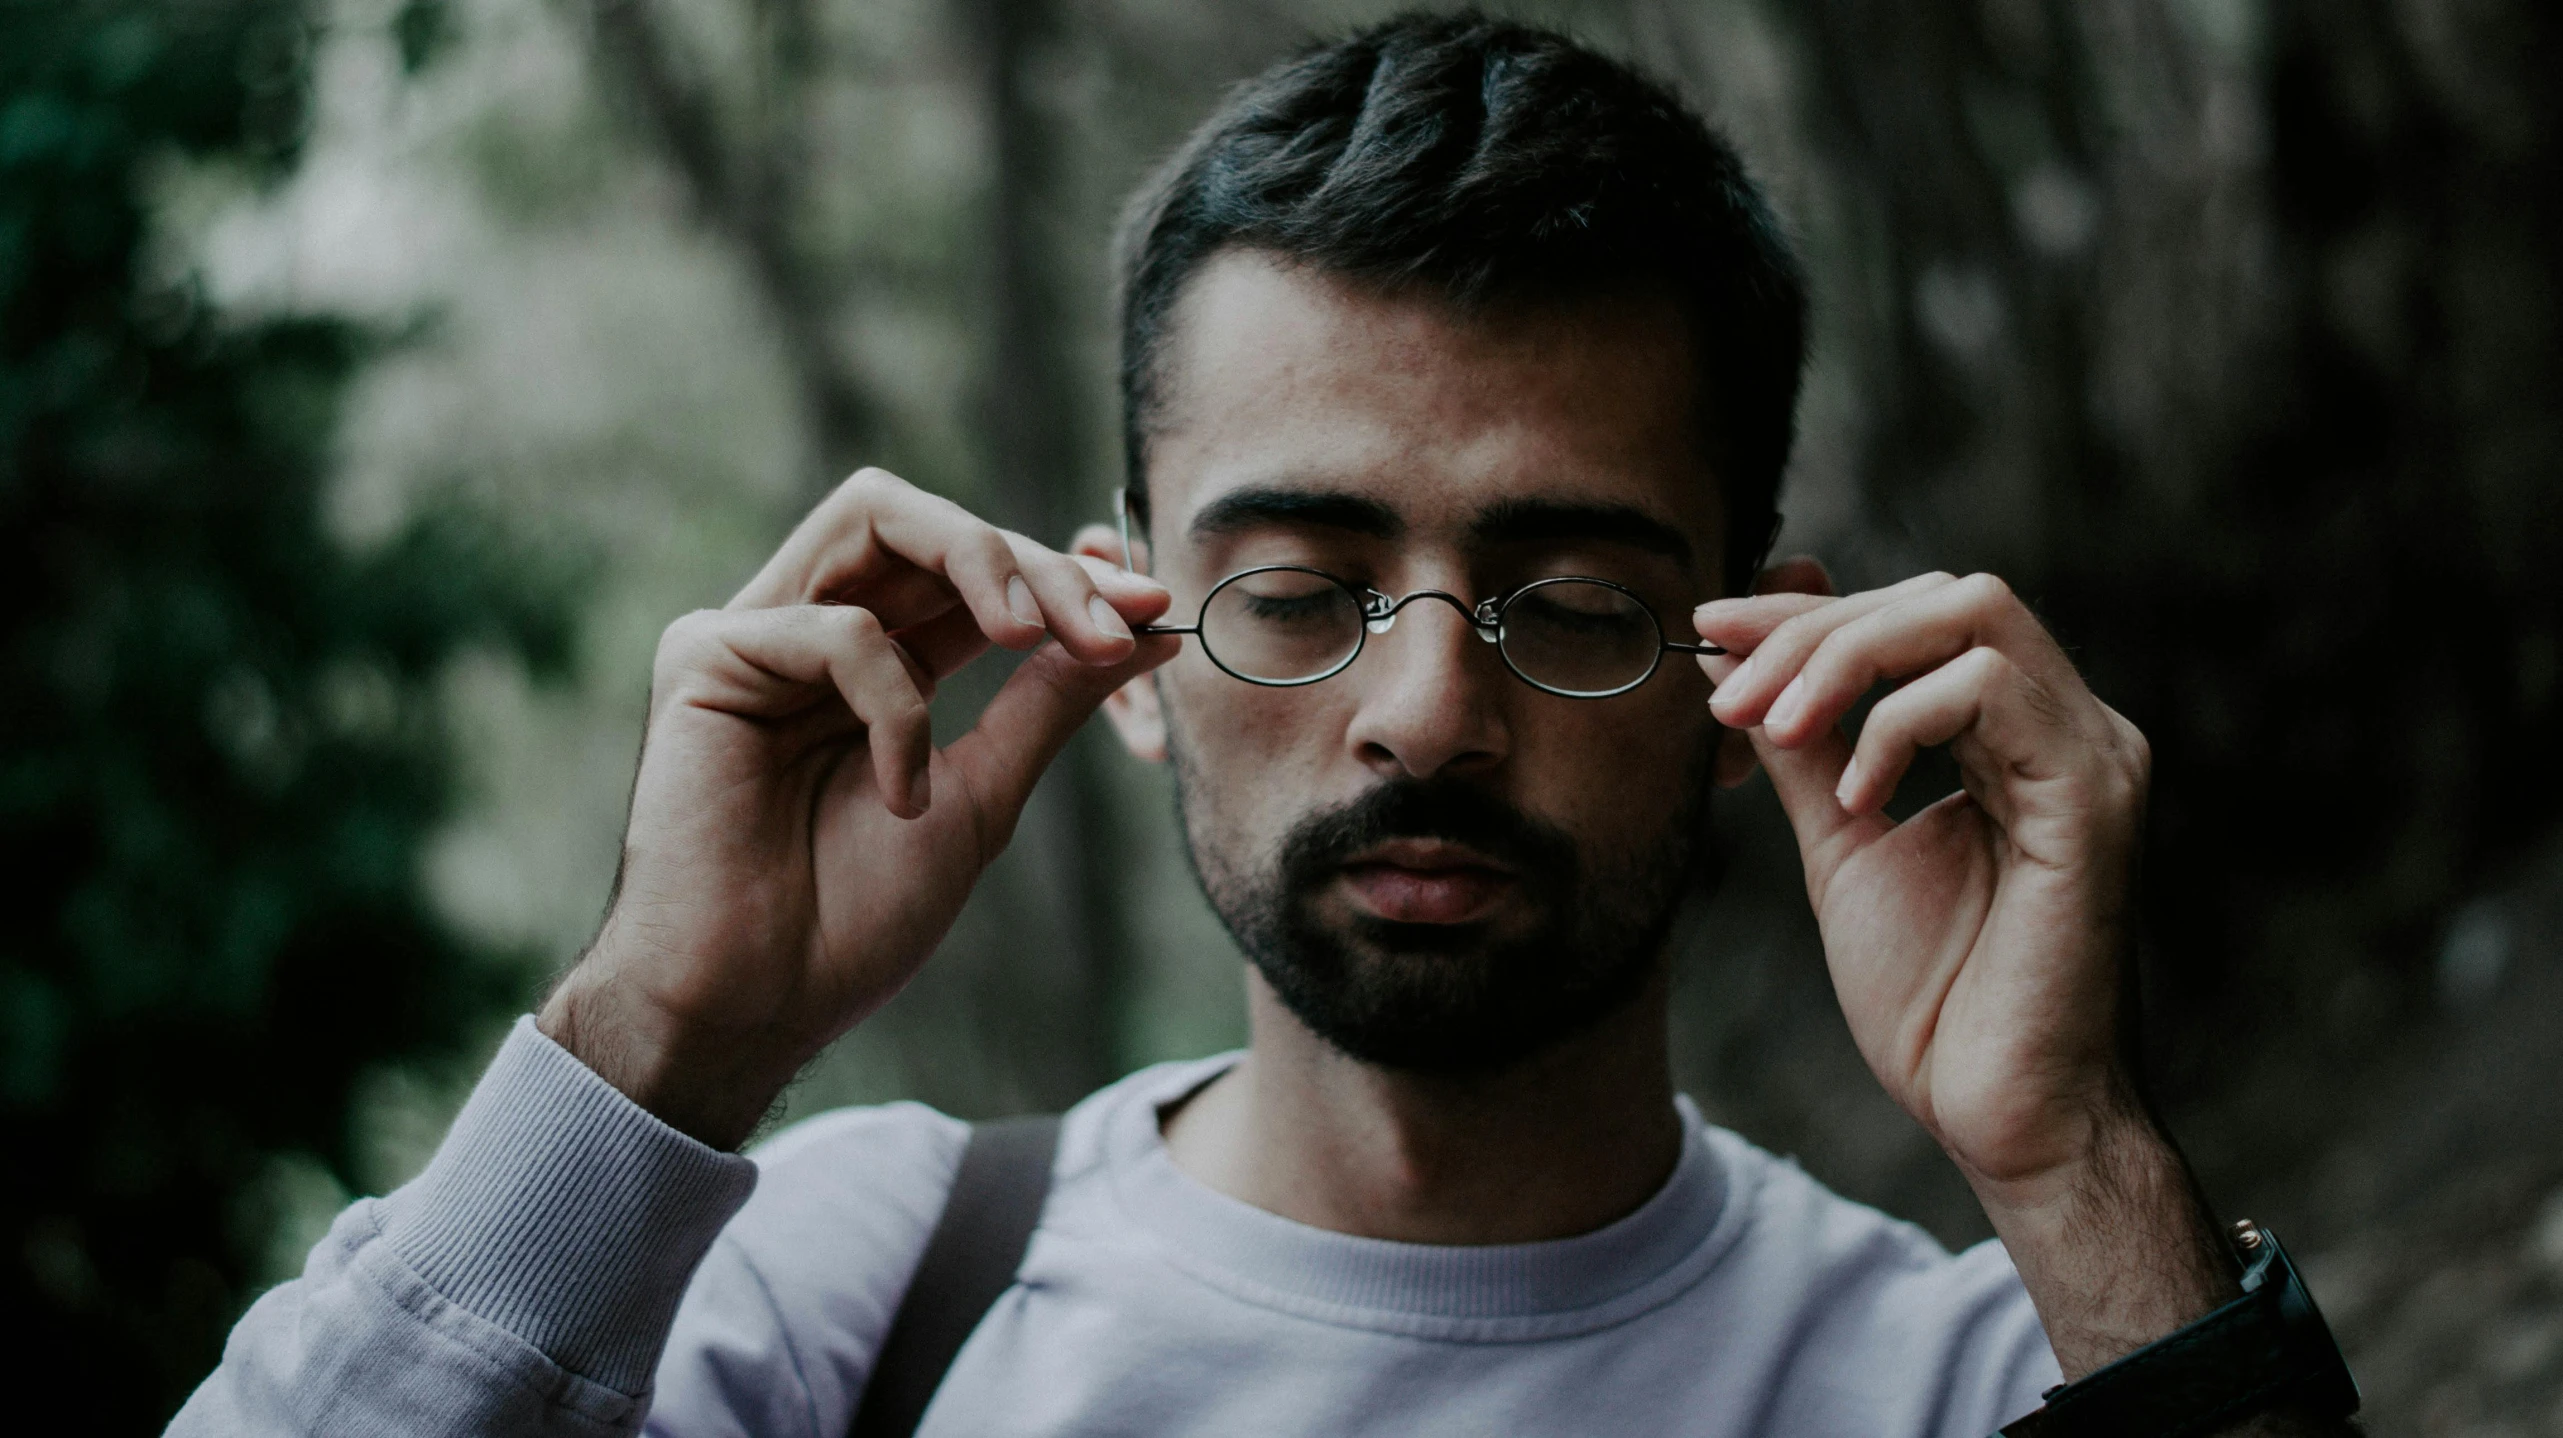
[[[1238,85],[1123,223],[1123,443],[1141,520],[1174,302],[1223,249],[1463,308],[1671,292],[1725,502],[1725,582],[1751,584],[1797,436],[1807,282],[1735,149],[1663,85],[1476,13],[1399,15]]]

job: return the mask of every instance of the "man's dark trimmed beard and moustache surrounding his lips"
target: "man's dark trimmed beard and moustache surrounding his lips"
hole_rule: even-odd
[[[1182,746],[1174,772],[1192,872],[1274,995],[1343,1054],[1417,1074],[1510,1069],[1633,1002],[1663,956],[1707,807],[1699,764],[1653,846],[1589,856],[1476,784],[1389,779],[1299,820],[1279,861],[1246,872],[1230,864],[1238,856],[1205,854]],[[1320,892],[1346,859],[1384,838],[1466,843],[1507,864],[1538,915],[1533,930],[1320,918]]]

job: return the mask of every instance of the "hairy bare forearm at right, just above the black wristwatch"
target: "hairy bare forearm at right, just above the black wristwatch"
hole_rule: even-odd
[[[2032,1182],[1971,1179],[2038,1305],[2066,1382],[2243,1294],[2240,1261],[2189,1164],[2138,1105],[2094,1125],[2081,1164]],[[2358,1428],[2271,1410],[2220,1433],[2335,1438]]]

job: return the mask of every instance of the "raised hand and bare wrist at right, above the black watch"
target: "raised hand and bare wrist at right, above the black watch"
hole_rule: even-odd
[[[1825,590],[1812,561],[1792,569]],[[2230,1297],[2214,1223],[2132,1079],[2145,736],[1989,574],[1694,618],[1730,651],[1704,661],[1712,713],[1789,813],[1861,1056],[1976,1187],[2066,1374]],[[1840,720],[1879,684],[1853,743]],[[1891,820],[1927,746],[1963,789]]]

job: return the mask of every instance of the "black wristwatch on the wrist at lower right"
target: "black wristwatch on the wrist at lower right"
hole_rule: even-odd
[[[2048,1389],[2048,1402],[1999,1438],[2204,1438],[2281,1405],[2330,1420],[2358,1412],[2358,1382],[2279,1236],[2243,1220],[2235,1251],[2243,1297]]]

